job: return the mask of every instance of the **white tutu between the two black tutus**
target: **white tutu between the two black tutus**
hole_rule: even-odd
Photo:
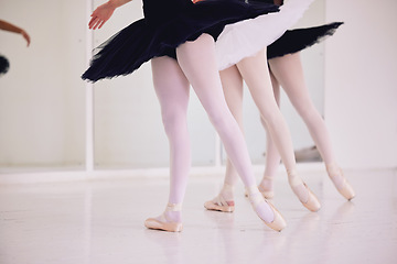
[[[256,55],[273,43],[303,15],[313,0],[289,0],[277,13],[226,25],[215,48],[218,69],[223,70],[245,57]]]

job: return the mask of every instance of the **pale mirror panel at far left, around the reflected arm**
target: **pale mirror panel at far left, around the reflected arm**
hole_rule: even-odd
[[[11,65],[0,78],[0,167],[82,165],[85,2],[0,0],[0,18],[32,38],[26,48],[21,35],[0,31]]]

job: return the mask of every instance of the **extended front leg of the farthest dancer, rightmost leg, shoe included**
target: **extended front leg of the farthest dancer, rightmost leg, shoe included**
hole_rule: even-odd
[[[291,103],[307,124],[309,132],[325,163],[326,170],[336,189],[351,200],[355,194],[335,162],[330,134],[325,122],[314,107],[304,82],[300,53],[285,55],[269,61],[270,68],[285,89]]]

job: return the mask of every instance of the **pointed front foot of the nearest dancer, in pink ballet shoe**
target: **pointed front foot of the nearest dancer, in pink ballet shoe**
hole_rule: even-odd
[[[248,199],[258,217],[272,230],[281,231],[287,223],[280,212],[268,202],[256,186],[247,187]]]

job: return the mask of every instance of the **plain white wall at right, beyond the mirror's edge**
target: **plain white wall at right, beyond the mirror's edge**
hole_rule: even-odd
[[[328,0],[325,120],[344,167],[397,166],[397,1]]]

